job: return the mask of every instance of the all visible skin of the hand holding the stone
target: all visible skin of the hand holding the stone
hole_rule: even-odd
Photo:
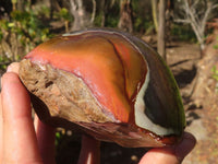
[[[0,164],[55,164],[56,129],[43,124],[37,116],[33,122],[29,96],[17,70],[19,63],[11,65],[1,79]],[[177,145],[152,149],[140,164],[179,164],[195,143],[195,138],[184,132]],[[100,163],[99,148],[99,141],[84,136],[78,164]]]

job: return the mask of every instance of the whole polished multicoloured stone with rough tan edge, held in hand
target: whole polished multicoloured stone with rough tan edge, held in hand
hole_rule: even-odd
[[[64,34],[21,61],[39,118],[123,147],[174,144],[185,117],[177,83],[142,39],[111,30]]]

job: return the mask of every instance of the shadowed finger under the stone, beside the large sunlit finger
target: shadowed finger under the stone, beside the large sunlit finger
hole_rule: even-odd
[[[38,140],[38,148],[45,164],[55,164],[55,140],[56,129],[41,122],[37,115],[34,120],[36,136]]]

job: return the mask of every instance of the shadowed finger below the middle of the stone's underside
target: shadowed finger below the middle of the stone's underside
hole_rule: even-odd
[[[100,141],[83,136],[77,164],[100,164]]]

